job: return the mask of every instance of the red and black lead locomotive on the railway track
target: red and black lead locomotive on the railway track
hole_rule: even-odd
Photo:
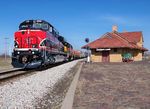
[[[37,68],[73,57],[72,45],[44,20],[26,20],[14,34],[13,67]]]

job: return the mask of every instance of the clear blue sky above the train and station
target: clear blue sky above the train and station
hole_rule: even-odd
[[[78,50],[85,38],[94,41],[113,25],[118,32],[142,31],[150,49],[150,0],[1,0],[0,54],[11,53],[14,32],[29,19],[51,23]]]

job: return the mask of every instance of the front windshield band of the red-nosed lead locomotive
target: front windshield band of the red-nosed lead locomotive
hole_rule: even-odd
[[[40,29],[40,30],[48,30],[48,24],[43,23],[43,22],[25,22],[21,23],[19,26],[19,30],[26,30],[26,29]]]

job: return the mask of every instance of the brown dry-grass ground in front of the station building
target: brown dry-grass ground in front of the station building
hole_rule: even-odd
[[[150,62],[85,63],[73,109],[150,109]]]

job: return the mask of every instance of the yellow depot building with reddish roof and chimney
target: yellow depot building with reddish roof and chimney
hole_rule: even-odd
[[[122,62],[125,54],[130,54],[133,61],[141,61],[143,53],[147,51],[143,42],[141,31],[118,32],[117,26],[113,26],[112,32],[105,33],[82,48],[90,48],[92,62]]]

